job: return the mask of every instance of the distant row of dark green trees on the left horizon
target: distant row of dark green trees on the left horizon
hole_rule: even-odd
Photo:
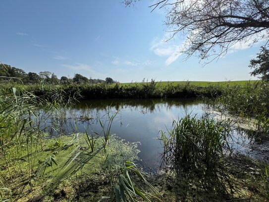
[[[26,73],[23,69],[17,67],[11,67],[10,65],[0,64],[0,79],[9,81],[13,79],[14,81],[23,82],[24,84],[81,84],[81,83],[115,83],[112,78],[107,77],[105,80],[96,78],[87,78],[79,73],[76,73],[73,78],[67,76],[61,76],[60,79],[57,75],[50,71],[28,72]]]

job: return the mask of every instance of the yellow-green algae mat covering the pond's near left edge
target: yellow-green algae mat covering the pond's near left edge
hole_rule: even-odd
[[[111,173],[116,172],[126,160],[139,160],[137,143],[126,143],[111,135],[105,151],[103,137],[96,136],[95,140],[93,152],[89,149],[85,134],[45,137],[42,139],[42,146],[36,144],[30,149],[30,153],[29,145],[28,149],[24,144],[10,147],[6,151],[6,157],[11,176],[1,158],[0,180],[4,187],[12,191],[15,201],[54,201],[54,198],[75,196],[74,192],[79,191],[77,187],[83,182],[100,184],[109,179]],[[102,189],[111,191],[110,184],[107,183]],[[93,193],[95,197],[99,195],[102,196]]]

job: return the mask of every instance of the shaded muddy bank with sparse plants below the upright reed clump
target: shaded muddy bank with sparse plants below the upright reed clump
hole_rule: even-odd
[[[151,182],[167,202],[267,202],[269,192],[261,177],[264,168],[262,161],[233,154],[225,156],[215,170],[162,170],[151,176]]]

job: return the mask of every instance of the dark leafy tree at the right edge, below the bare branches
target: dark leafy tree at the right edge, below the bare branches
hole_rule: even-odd
[[[269,49],[261,47],[261,52],[257,58],[250,61],[250,68],[254,68],[251,75],[258,75],[263,80],[269,81]]]

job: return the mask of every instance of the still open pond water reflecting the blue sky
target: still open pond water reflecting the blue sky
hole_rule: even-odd
[[[158,140],[160,131],[170,129],[172,121],[184,117],[186,113],[201,116],[201,101],[193,99],[113,99],[86,100],[69,109],[61,130],[56,133],[102,132],[98,118],[108,126],[108,112],[117,112],[111,125],[111,134],[129,142],[140,142],[139,157],[145,168],[157,169],[161,162],[162,145]],[[90,119],[89,119],[90,118]],[[167,128],[167,129],[166,129]],[[55,135],[55,131],[54,131]]]

